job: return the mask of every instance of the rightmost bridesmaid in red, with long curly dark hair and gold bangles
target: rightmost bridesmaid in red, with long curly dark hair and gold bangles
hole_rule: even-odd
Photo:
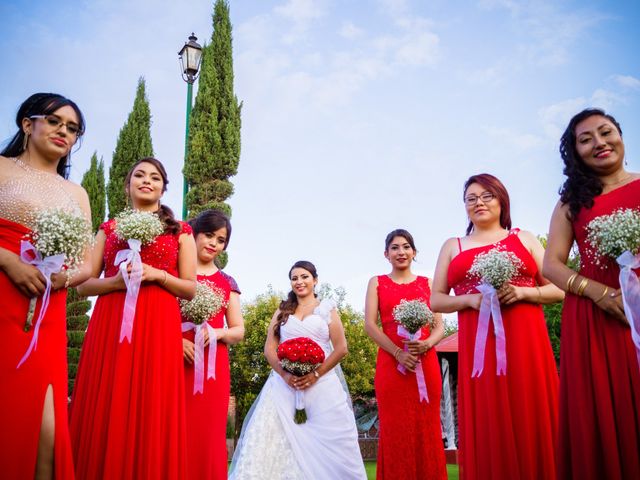
[[[599,266],[586,242],[586,226],[595,217],[640,209],[640,174],[625,170],[620,125],[602,110],[571,119],[560,153],[567,180],[544,259],[545,274],[567,291],[558,478],[640,478],[640,370],[620,295],[620,268],[613,260]],[[577,276],[566,266],[574,241],[581,260]]]

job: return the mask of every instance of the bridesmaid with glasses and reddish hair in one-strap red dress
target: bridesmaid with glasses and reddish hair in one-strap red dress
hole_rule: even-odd
[[[562,300],[542,277],[544,249],[529,232],[511,229],[509,194],[493,175],[474,175],[464,186],[467,236],[442,246],[431,302],[440,312],[458,312],[458,421],[460,478],[551,479],[556,475],[558,373],[540,304]],[[492,319],[484,368],[472,378],[479,280],[468,272],[478,254],[500,247],[523,266],[498,290],[506,339],[506,374],[496,372]],[[453,289],[455,296],[450,296]]]

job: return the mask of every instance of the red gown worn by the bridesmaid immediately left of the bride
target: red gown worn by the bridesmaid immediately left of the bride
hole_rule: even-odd
[[[213,275],[198,275],[198,281],[223,292],[228,305],[231,292],[240,293],[235,280],[222,271]],[[226,307],[209,319],[213,328],[223,328]],[[182,334],[194,341],[195,333]],[[189,474],[199,480],[227,478],[227,412],[229,410],[229,351],[227,344],[216,345],[216,377],[207,379],[209,346],[204,350],[204,387],[193,393],[194,365],[185,362],[185,398],[187,409],[187,452]]]

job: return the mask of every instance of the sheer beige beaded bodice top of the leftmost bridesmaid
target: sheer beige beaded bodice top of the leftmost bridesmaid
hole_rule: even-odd
[[[20,167],[17,173],[0,183],[1,218],[33,230],[36,215],[42,210],[58,208],[82,214],[60,175],[36,170],[19,159],[14,161]]]

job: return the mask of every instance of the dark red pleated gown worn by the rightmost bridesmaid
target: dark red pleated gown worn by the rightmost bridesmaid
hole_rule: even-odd
[[[596,265],[585,227],[618,208],[640,209],[640,180],[596,197],[573,222],[580,273],[611,289],[620,288],[619,267]],[[567,294],[560,341],[558,478],[640,478],[640,367],[629,327]]]

